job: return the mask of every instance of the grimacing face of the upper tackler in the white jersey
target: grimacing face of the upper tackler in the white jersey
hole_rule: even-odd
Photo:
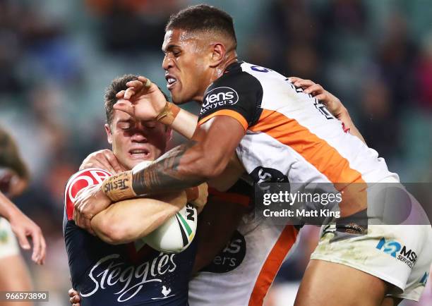
[[[165,33],[162,68],[174,103],[201,102],[203,99],[204,91],[210,85],[209,50],[208,42],[198,34],[178,29]]]

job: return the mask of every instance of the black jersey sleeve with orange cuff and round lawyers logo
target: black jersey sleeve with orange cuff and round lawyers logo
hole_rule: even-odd
[[[198,126],[215,116],[230,116],[246,131],[259,118],[263,87],[246,72],[227,73],[205,91]]]

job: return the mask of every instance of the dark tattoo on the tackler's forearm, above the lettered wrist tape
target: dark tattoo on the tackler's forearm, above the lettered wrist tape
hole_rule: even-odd
[[[196,142],[191,140],[165,153],[147,168],[133,174],[133,191],[137,195],[181,190],[203,183],[203,178],[185,176],[179,172],[181,157]]]

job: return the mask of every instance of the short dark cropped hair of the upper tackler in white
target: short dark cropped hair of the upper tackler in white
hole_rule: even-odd
[[[234,31],[232,17],[219,8],[207,4],[188,6],[178,13],[172,14],[165,26],[165,32],[172,29],[181,29],[190,32],[220,32],[233,40],[234,49],[237,47],[236,32]]]

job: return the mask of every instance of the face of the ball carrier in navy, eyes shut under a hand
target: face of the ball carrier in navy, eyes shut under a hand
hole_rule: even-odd
[[[114,110],[111,126],[105,125],[112,152],[126,168],[140,161],[154,160],[165,152],[171,130],[157,121],[136,121],[123,111]]]

